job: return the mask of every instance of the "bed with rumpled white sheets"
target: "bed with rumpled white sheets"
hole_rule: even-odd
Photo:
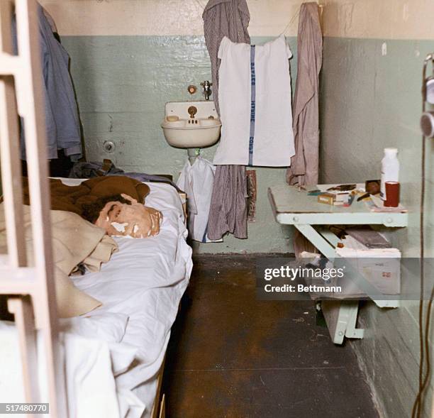
[[[62,179],[67,185],[81,181]],[[73,277],[79,289],[103,305],[84,317],[61,320],[70,417],[157,416],[170,329],[192,261],[179,194],[167,184],[148,185],[146,205],[163,214],[160,233],[146,239],[115,238],[119,251],[109,263],[97,273]],[[23,402],[15,326],[3,321],[0,332],[0,402]],[[43,370],[42,348],[38,354]]]

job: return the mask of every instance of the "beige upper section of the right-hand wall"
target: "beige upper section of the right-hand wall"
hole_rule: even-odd
[[[433,0],[323,0],[322,3],[325,36],[434,39]]]

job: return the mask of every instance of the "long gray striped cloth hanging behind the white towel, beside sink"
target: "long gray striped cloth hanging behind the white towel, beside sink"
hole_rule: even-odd
[[[236,43],[250,43],[247,31],[250,13],[245,0],[209,0],[202,17],[211,59],[214,104],[219,112],[218,48],[224,36]],[[208,216],[209,239],[218,240],[227,232],[236,238],[247,238],[246,194],[245,166],[218,165]]]

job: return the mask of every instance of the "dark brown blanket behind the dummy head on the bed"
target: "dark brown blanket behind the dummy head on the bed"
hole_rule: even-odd
[[[150,189],[148,185],[124,176],[94,177],[78,186],[64,185],[60,180],[50,179],[51,209],[74,212],[82,216],[83,205],[100,197],[128,194],[140,203],[145,202]],[[27,178],[23,178],[23,203],[30,204]]]

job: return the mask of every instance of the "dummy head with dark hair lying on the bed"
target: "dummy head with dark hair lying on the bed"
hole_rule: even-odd
[[[160,232],[162,214],[127,194],[116,194],[85,206],[83,217],[111,236],[148,238]]]

